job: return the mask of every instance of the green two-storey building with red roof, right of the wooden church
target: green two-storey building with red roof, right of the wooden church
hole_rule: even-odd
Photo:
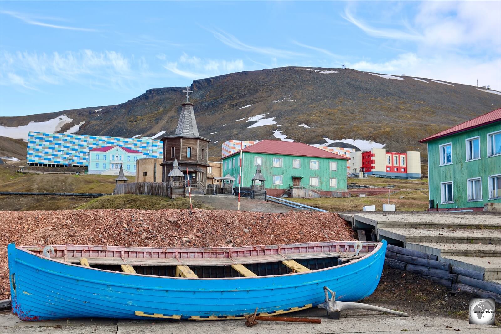
[[[240,152],[222,160],[222,175],[231,175],[238,184]],[[321,196],[345,195],[349,158],[304,143],[263,140],[242,150],[242,187],[252,186],[257,167],[265,177],[265,189],[273,196],[291,189]],[[301,191],[303,190],[303,191]],[[317,196],[315,196],[317,197]]]

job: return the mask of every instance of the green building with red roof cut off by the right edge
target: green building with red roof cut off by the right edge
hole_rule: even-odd
[[[419,142],[428,144],[430,210],[501,202],[501,109]]]

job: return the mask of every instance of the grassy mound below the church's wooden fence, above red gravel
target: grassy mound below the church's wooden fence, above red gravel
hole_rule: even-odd
[[[212,209],[197,200],[192,200],[193,207],[198,209]],[[77,209],[189,209],[189,198],[177,197],[170,199],[163,196],[148,195],[113,195],[95,198]]]

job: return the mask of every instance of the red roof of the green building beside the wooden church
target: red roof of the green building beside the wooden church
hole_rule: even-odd
[[[238,143],[238,141],[236,142]],[[343,157],[342,155],[331,153],[329,151],[325,151],[305,143],[283,142],[280,140],[262,140],[256,144],[247,146],[242,151],[253,152],[253,153],[299,155],[304,157],[350,160],[350,158]],[[232,153],[226,157],[238,154],[239,152],[240,151],[236,151],[235,153]]]

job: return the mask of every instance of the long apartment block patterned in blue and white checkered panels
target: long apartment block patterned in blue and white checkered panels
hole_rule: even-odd
[[[30,132],[26,159],[28,165],[32,166],[88,166],[89,150],[115,145],[139,151],[144,155],[143,158],[162,157],[162,142],[149,137],[120,138]]]

